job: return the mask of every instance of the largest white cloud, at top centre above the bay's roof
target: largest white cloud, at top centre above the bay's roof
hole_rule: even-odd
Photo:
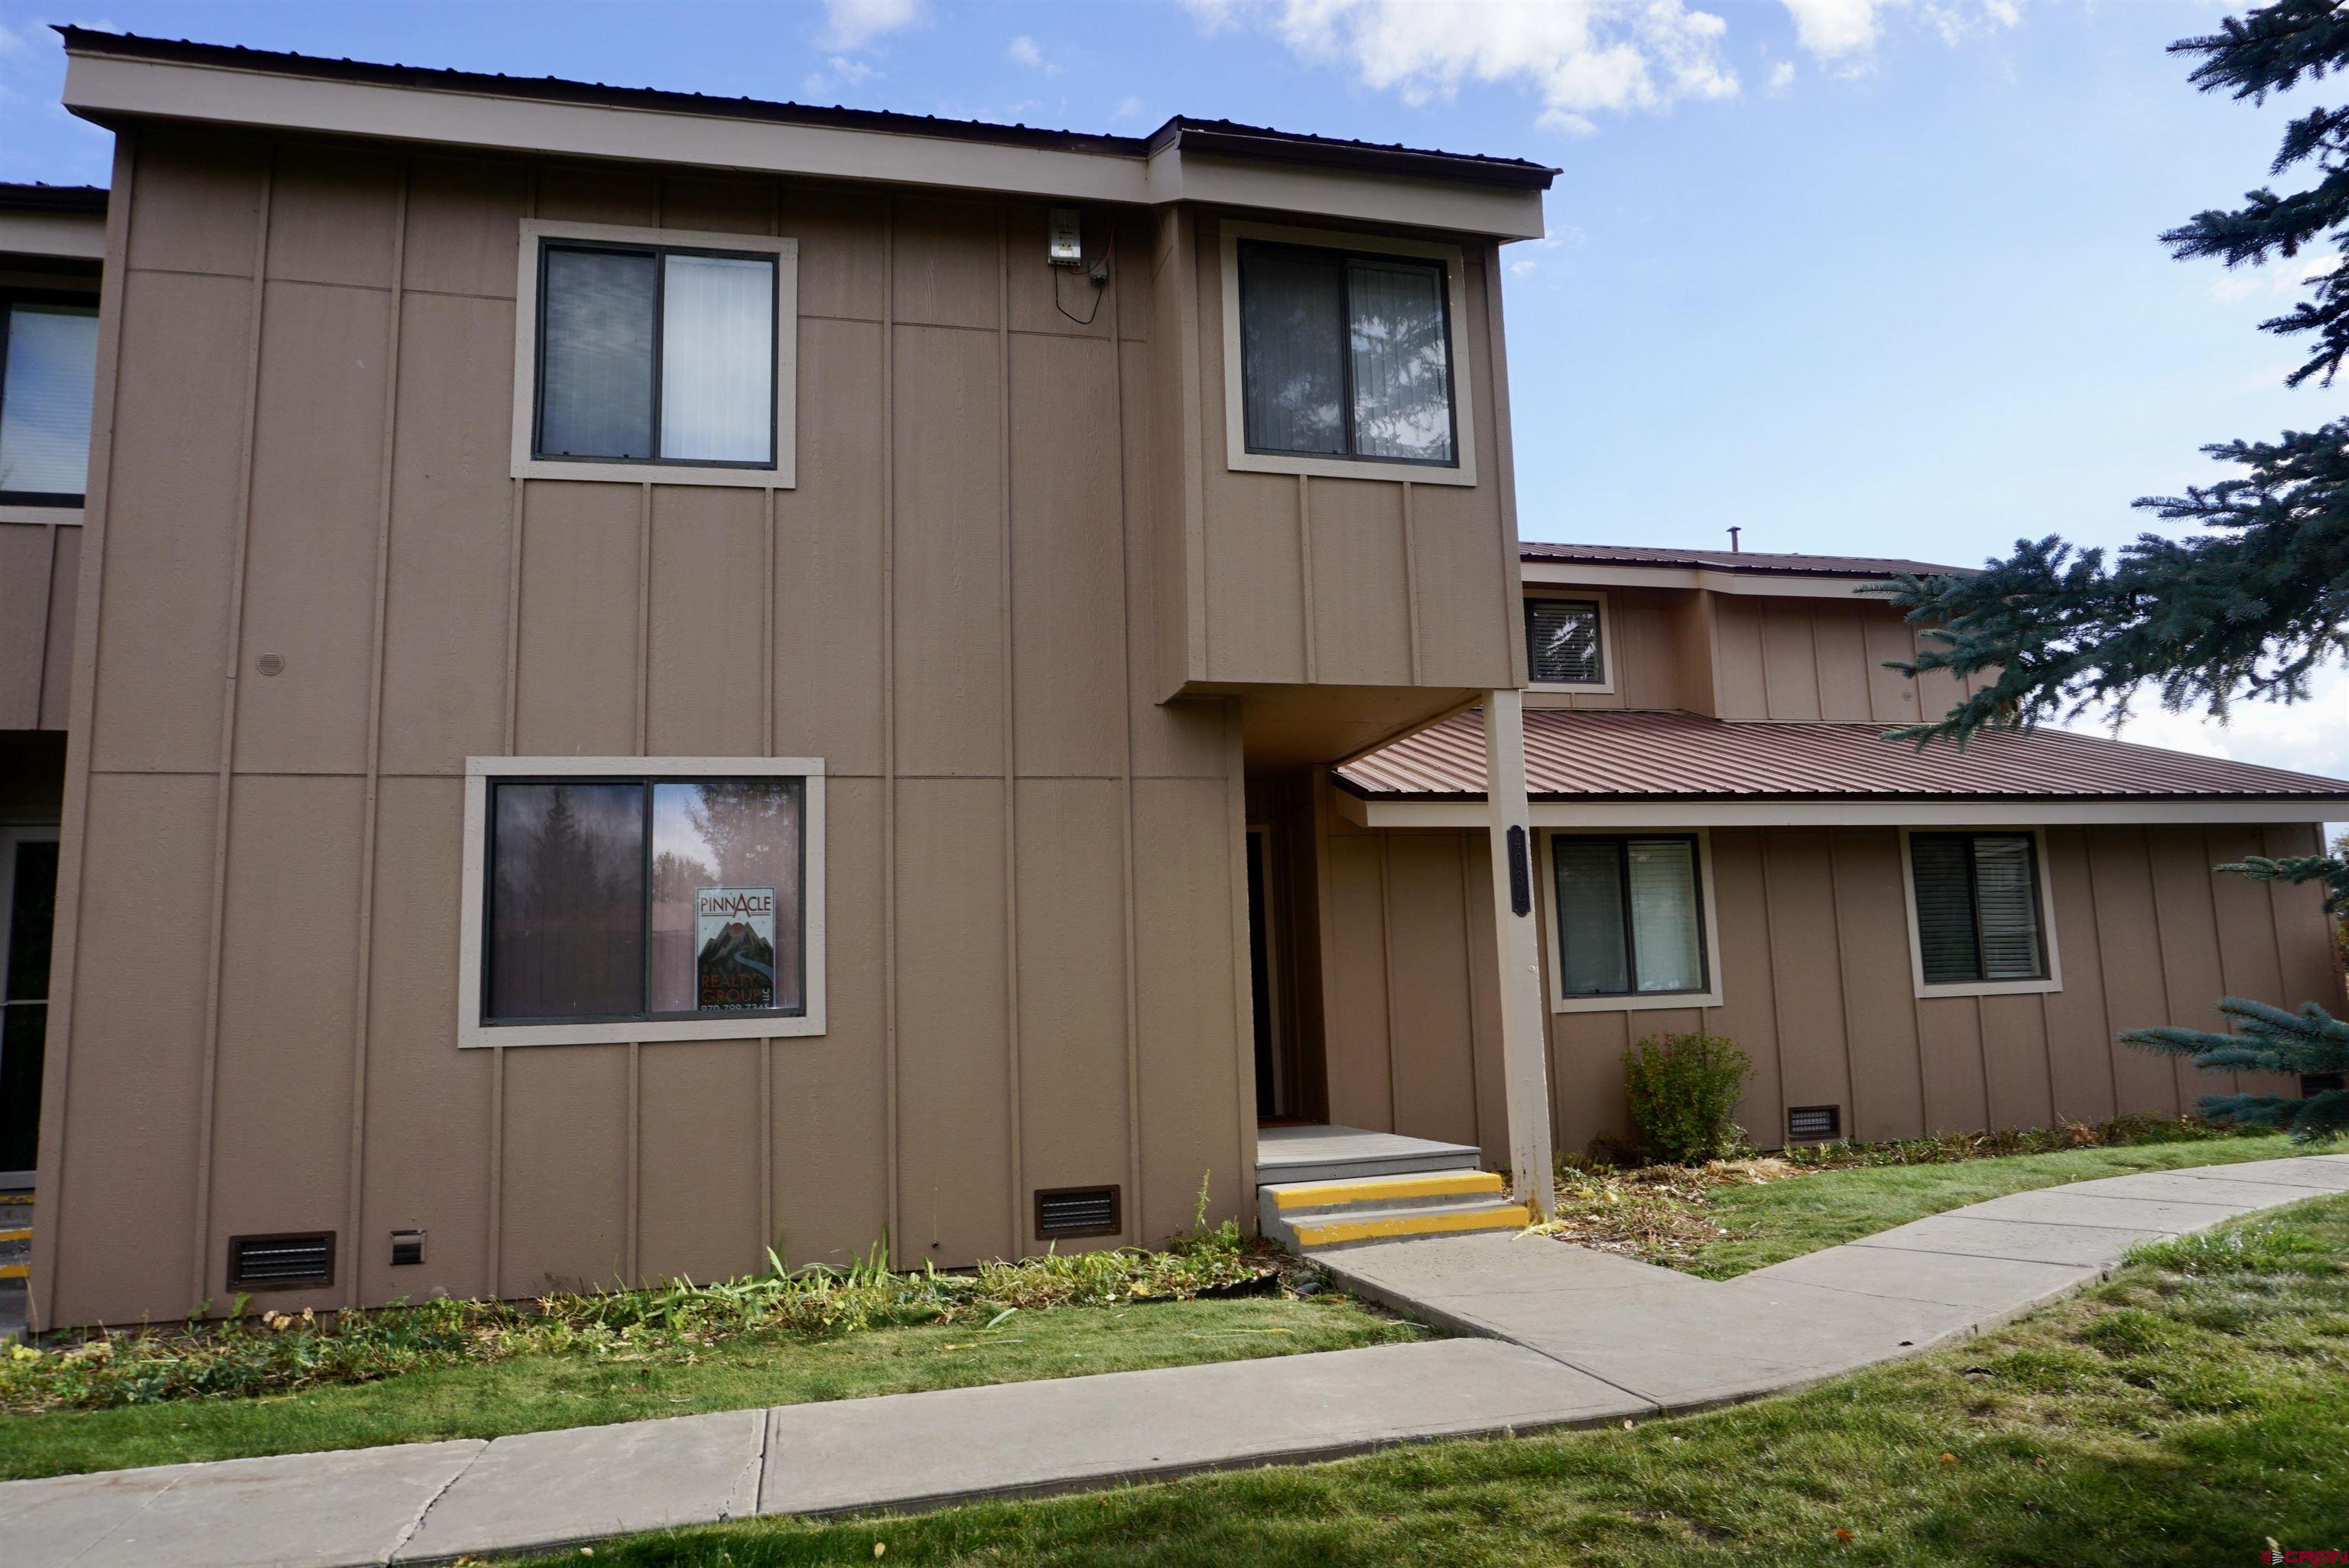
[[[1590,115],[1729,99],[1729,23],[1684,0],[1280,0],[1257,9],[1186,0],[1207,33],[1268,19],[1280,42],[1346,66],[1409,106],[1466,85],[1515,85],[1541,99],[1541,124],[1590,131]]]

